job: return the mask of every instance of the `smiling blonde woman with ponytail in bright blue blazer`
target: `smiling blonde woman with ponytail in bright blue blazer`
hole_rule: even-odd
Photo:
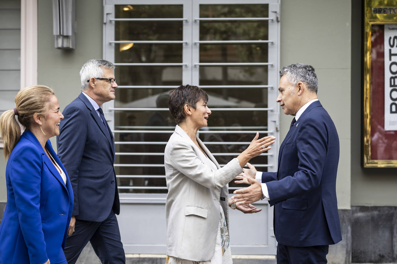
[[[68,230],[73,191],[49,140],[59,135],[62,118],[58,99],[46,86],[19,91],[15,108],[0,117],[8,158],[1,264],[67,264],[63,248],[68,232],[73,231]],[[19,124],[25,127],[22,135]]]

